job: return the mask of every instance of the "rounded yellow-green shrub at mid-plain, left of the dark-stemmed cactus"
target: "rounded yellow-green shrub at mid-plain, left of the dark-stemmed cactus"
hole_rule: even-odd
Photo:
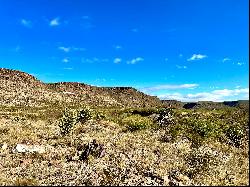
[[[153,125],[153,121],[151,119],[142,117],[138,114],[122,119],[122,123],[125,124],[130,131],[145,129]]]

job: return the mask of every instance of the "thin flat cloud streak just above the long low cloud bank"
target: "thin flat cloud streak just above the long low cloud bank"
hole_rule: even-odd
[[[151,91],[158,91],[158,90],[176,90],[176,89],[193,89],[199,86],[198,84],[165,84],[165,85],[158,85],[152,87],[145,87],[142,88],[142,91],[151,92]]]

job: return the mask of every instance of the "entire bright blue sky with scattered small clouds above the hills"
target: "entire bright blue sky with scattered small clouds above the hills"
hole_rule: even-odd
[[[249,98],[248,0],[0,0],[0,67],[161,99]]]

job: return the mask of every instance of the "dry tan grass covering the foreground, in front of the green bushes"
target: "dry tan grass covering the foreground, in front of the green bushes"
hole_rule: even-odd
[[[249,184],[246,147],[209,142],[196,154],[187,139],[160,141],[164,134],[161,129],[126,132],[121,124],[92,120],[78,123],[69,135],[61,137],[56,121],[2,118],[1,132],[0,143],[8,144],[0,154],[1,185],[170,185],[172,179],[168,178],[175,172],[180,173],[175,176],[180,181],[173,180],[182,185]],[[104,144],[105,156],[80,161],[77,147],[93,139]],[[46,152],[13,153],[17,143],[38,144]],[[202,157],[206,151],[216,153],[211,157],[214,164],[205,170],[196,168],[197,173],[189,177],[194,171],[188,164],[189,157]]]

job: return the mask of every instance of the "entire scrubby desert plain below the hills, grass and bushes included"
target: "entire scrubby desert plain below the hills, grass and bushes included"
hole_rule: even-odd
[[[236,107],[2,106],[0,185],[249,185],[248,122]]]

